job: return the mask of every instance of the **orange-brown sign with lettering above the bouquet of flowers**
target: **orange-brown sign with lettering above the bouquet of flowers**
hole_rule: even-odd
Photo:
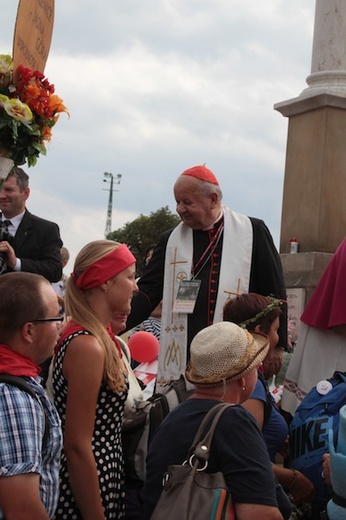
[[[54,0],[20,0],[13,38],[14,81],[24,65],[44,72],[54,25]]]

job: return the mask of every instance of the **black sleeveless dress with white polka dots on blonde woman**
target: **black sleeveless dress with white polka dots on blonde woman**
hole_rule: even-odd
[[[63,431],[65,429],[65,412],[67,383],[62,375],[62,361],[70,341],[82,334],[80,330],[68,336],[62,343],[53,372],[55,405],[59,412]],[[99,475],[100,494],[107,520],[124,518],[124,470],[121,445],[121,423],[127,392],[116,394],[104,383],[100,388],[96,406],[96,419],[92,448]],[[62,452],[60,466],[60,497],[55,513],[56,520],[75,520],[82,516],[77,508],[69,485],[67,461]]]

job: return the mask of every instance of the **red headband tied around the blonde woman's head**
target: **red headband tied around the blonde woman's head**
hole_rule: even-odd
[[[136,259],[128,247],[121,244],[114,251],[89,265],[80,276],[77,276],[74,272],[71,273],[71,276],[79,289],[92,289],[107,282],[135,262]]]

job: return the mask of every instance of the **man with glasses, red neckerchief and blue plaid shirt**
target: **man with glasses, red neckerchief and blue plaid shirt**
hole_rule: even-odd
[[[0,294],[0,519],[46,520],[57,506],[62,435],[39,364],[53,354],[62,318],[41,275],[4,274]]]

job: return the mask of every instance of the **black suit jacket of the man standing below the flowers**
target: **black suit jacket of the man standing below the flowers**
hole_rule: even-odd
[[[41,274],[50,282],[58,282],[62,276],[62,245],[57,224],[25,210],[13,246],[21,260],[22,271]]]

